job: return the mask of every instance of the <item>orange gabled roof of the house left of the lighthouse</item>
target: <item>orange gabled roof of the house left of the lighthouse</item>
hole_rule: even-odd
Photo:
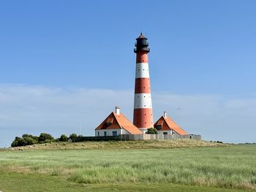
[[[108,124],[109,123],[109,124]],[[124,128],[129,134],[143,134],[140,129],[133,125],[129,120],[120,113],[119,115],[116,112],[111,112],[103,122],[95,128],[95,130],[102,129],[119,129]]]

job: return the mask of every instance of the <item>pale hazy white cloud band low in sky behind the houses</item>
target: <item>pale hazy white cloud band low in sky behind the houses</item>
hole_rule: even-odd
[[[152,99],[154,120],[166,110],[181,127],[204,139],[255,142],[256,98],[152,93]],[[132,120],[133,91],[0,85],[0,146],[24,133],[94,135],[116,105]]]

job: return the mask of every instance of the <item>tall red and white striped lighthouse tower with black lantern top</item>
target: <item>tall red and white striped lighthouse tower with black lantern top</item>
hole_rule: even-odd
[[[148,128],[154,127],[148,69],[148,52],[150,49],[148,48],[147,38],[142,33],[136,40],[134,49],[136,53],[136,73],[133,124],[145,133]]]

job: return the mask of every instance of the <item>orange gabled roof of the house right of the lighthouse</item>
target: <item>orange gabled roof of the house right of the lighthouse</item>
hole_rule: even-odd
[[[171,118],[162,116],[154,123],[154,127],[161,125],[162,128],[159,131],[167,131],[173,129],[177,134],[185,135],[188,134],[187,131],[184,131],[180,126],[178,126]]]

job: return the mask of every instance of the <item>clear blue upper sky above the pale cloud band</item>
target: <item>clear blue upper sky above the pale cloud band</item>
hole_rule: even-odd
[[[0,83],[132,90],[143,31],[153,92],[255,99],[255,9],[249,0],[1,1]]]

